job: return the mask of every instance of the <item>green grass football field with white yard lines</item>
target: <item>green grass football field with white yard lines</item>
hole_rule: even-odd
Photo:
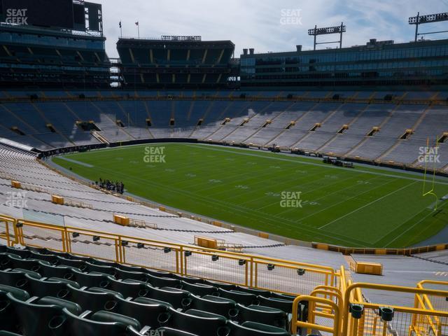
[[[149,147],[164,147],[166,162],[145,162]],[[200,144],[120,147],[65,158],[71,161],[54,162],[92,181],[121,180],[127,192],[148,200],[294,239],[400,248],[432,237],[448,222],[446,202],[433,211],[435,198],[422,196],[421,176],[404,172]],[[300,204],[281,202],[284,196],[294,200],[292,193],[300,193]],[[447,195],[448,180],[437,181],[435,193]]]

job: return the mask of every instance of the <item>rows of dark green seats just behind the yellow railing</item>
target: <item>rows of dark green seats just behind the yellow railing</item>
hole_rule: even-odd
[[[29,304],[62,307],[66,316],[74,314],[88,325],[127,323],[121,334],[113,335],[138,335],[142,326],[162,328],[165,335],[289,335],[294,298],[69,253],[5,246],[0,246],[0,292]],[[78,321],[66,316],[66,325]],[[212,334],[202,328],[207,323],[214,325]],[[9,331],[20,329],[16,325]]]

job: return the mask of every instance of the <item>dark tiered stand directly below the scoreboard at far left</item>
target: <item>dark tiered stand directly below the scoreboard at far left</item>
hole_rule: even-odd
[[[109,87],[102,36],[0,26],[1,87]]]

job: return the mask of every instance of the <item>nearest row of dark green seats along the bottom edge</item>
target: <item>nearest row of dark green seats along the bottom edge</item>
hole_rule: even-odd
[[[83,311],[79,304],[57,297],[19,300],[15,293],[5,289],[0,290],[0,328],[27,336],[144,335],[151,328],[167,330],[167,335],[290,335],[274,326],[253,322],[239,325],[224,316],[196,309],[181,312],[172,307],[128,302],[117,297],[118,306],[110,306],[109,311],[92,312]],[[128,315],[113,312],[114,309]],[[131,315],[144,321],[144,328]]]

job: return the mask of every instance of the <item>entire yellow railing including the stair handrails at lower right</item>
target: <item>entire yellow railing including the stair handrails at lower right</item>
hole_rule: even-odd
[[[0,239],[8,246],[45,247],[186,276],[300,295],[293,302],[291,331],[333,336],[448,335],[448,282],[421,281],[416,288],[352,283],[342,266],[293,262],[258,255],[142,239],[0,216]],[[428,286],[437,289],[427,288]],[[368,302],[362,290],[412,294],[412,307]],[[307,302],[307,317],[299,302]],[[393,302],[391,302],[393,303]],[[358,315],[354,314],[358,311]],[[381,314],[380,314],[381,313]],[[386,313],[388,314],[386,316]]]

